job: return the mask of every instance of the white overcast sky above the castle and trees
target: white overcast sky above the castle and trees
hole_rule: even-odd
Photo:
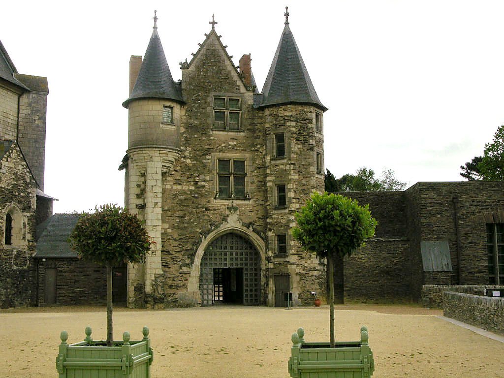
[[[216,30],[264,84],[289,22],[324,114],[325,165],[337,177],[392,169],[409,185],[458,181],[504,123],[504,2],[18,1],[0,40],[21,74],[49,82],[44,192],[54,211],[123,205],[129,59],[158,32],[175,80]],[[246,7],[246,8],[245,8]]]

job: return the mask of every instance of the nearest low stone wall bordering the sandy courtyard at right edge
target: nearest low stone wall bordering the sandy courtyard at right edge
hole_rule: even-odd
[[[443,292],[445,317],[504,334],[504,298]]]

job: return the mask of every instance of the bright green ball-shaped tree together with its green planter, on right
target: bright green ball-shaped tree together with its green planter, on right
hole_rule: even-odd
[[[374,235],[377,222],[368,205],[359,206],[355,200],[327,193],[314,193],[296,213],[296,222],[292,229],[294,238],[304,249],[327,259],[330,342],[306,343],[304,330],[299,329],[292,335],[289,373],[296,378],[326,377],[328,372],[369,377],[374,361],[367,343],[367,329],[361,328],[360,341],[335,343],[334,340],[334,258],[350,256],[363,246],[365,239]]]

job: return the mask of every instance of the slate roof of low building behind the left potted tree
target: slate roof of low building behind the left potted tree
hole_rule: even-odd
[[[35,258],[75,258],[68,238],[81,214],[54,214],[37,226]]]

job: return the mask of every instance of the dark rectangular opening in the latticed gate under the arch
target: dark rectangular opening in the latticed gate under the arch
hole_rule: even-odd
[[[243,304],[243,268],[214,268],[214,303]]]

